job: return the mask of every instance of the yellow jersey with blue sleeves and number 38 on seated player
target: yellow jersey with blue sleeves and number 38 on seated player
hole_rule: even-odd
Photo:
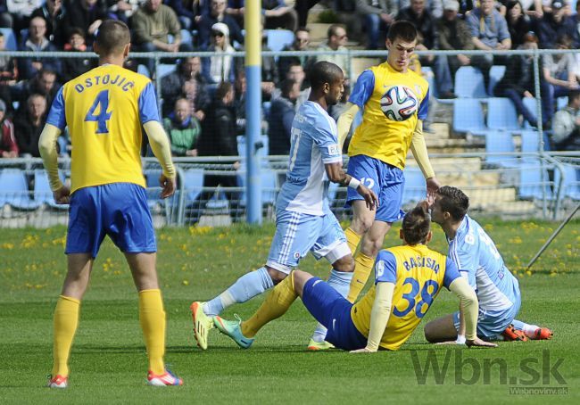
[[[449,288],[458,277],[459,270],[452,260],[424,244],[379,252],[375,261],[375,284],[394,283],[391,315],[380,346],[392,351],[399,349],[425,316],[441,286]],[[351,310],[354,326],[367,337],[375,294],[373,285]]]

